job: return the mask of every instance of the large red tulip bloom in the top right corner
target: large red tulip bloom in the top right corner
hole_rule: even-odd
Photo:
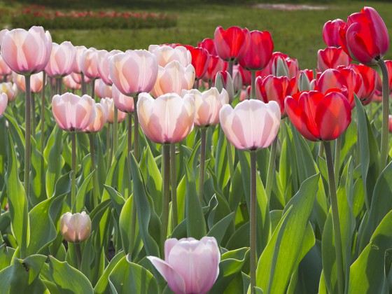
[[[389,47],[388,30],[372,7],[351,14],[339,28],[339,36],[343,50],[366,65],[377,64]]]

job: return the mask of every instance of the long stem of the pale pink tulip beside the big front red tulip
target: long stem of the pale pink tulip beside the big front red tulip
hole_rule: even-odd
[[[256,286],[256,153],[251,151],[251,293]]]

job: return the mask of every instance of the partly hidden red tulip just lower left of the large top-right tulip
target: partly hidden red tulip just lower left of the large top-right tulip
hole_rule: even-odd
[[[328,47],[318,50],[317,67],[320,71],[326,69],[337,69],[337,66],[348,66],[350,63],[349,55],[342,48]]]

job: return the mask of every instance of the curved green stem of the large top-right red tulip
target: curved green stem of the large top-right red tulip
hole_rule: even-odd
[[[382,73],[382,130],[381,130],[381,151],[380,151],[380,172],[386,167],[388,161],[388,114],[389,114],[389,78],[388,69],[384,59],[378,62]]]

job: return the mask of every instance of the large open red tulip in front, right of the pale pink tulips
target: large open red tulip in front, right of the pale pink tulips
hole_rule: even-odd
[[[336,92],[335,92],[336,91]],[[284,107],[303,137],[310,141],[330,141],[339,137],[351,123],[351,106],[339,90],[323,94],[300,92],[288,96]]]

